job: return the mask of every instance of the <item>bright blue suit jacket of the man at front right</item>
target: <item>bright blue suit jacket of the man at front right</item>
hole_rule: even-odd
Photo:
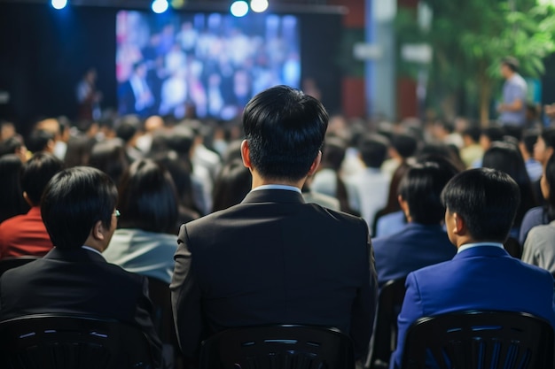
[[[401,367],[405,334],[421,317],[465,310],[524,311],[555,327],[551,274],[496,246],[463,250],[450,261],[410,273],[405,286],[393,368]]]

